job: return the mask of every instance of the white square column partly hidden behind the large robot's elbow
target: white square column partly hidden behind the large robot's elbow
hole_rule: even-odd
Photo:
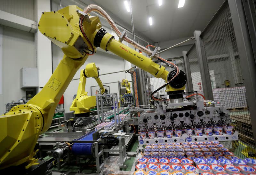
[[[51,1],[35,0],[35,19],[37,24],[44,11],[51,11]],[[38,82],[40,88],[44,87],[52,75],[52,42],[37,30],[35,33],[35,44],[36,67],[38,68]]]

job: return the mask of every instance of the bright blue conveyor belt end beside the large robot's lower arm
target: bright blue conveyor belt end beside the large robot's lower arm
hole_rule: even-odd
[[[92,134],[96,131],[92,131],[84,135],[83,137],[77,139],[78,141],[92,141]],[[92,155],[92,145],[93,143],[74,143],[72,146],[72,153],[75,155]]]

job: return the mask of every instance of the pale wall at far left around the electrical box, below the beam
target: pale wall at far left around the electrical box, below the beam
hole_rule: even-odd
[[[0,95],[0,114],[5,104],[25,96],[20,89],[20,69],[36,67],[34,34],[3,27],[3,95]]]

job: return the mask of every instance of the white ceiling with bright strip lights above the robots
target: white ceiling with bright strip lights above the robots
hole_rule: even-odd
[[[86,0],[80,0],[86,2]],[[203,30],[224,0],[186,0],[184,7],[177,8],[179,0],[132,0],[134,28],[154,42],[168,41],[192,36],[195,30]],[[130,24],[130,12],[124,0],[92,0],[107,12],[111,12],[121,25]],[[110,15],[111,16],[111,15]],[[153,18],[149,26],[148,17]]]

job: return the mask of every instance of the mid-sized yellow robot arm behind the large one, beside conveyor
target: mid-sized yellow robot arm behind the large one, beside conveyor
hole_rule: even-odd
[[[90,109],[96,106],[96,97],[90,95],[88,96],[87,92],[85,91],[86,78],[89,77],[93,77],[97,81],[102,94],[105,92],[103,84],[99,78],[98,68],[96,67],[95,63],[89,63],[86,65],[85,69],[81,70],[80,72],[80,80],[76,98],[73,100],[70,106],[70,110],[74,110],[75,115],[90,112]]]

